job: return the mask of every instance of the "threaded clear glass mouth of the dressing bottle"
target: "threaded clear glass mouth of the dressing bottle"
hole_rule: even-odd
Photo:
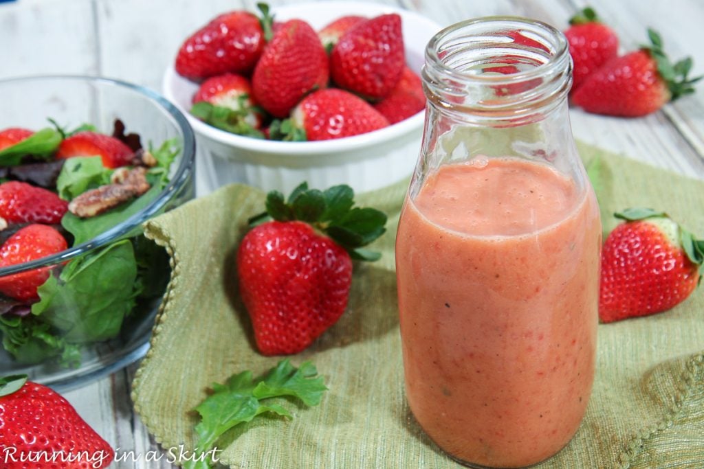
[[[572,59],[555,27],[491,16],[438,32],[425,51],[422,78],[429,101],[445,110],[520,118],[567,97]]]

